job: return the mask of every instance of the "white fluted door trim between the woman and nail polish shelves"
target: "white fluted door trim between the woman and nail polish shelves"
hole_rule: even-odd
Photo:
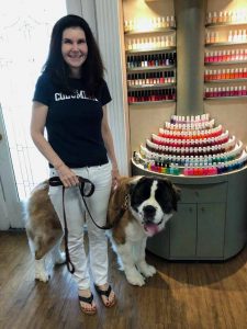
[[[126,101],[122,1],[96,0],[98,43],[112,102],[108,105],[121,174],[130,174],[128,106]]]

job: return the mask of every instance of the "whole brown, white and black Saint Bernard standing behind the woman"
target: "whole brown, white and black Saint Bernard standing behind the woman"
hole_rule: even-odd
[[[122,177],[111,192],[106,226],[112,227],[109,237],[128,283],[142,286],[145,277],[156,273],[145,261],[146,240],[165,228],[179,198],[179,189],[169,180],[148,177]],[[47,256],[52,254],[55,264],[66,261],[60,250],[63,230],[48,196],[48,181],[31,193],[25,228],[35,258],[35,279],[47,282]]]

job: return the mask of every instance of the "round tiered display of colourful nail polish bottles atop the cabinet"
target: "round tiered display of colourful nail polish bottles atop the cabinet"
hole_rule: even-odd
[[[141,145],[133,159],[147,170],[165,174],[216,175],[245,167],[247,150],[209,114],[172,115],[158,134]]]

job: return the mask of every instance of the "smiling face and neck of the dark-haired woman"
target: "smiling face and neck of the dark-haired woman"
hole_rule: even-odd
[[[63,32],[61,55],[74,78],[80,78],[80,68],[88,56],[85,31],[81,27],[68,27]]]

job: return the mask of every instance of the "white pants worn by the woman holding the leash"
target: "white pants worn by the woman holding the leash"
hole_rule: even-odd
[[[108,202],[111,191],[111,164],[85,167],[72,169],[80,177],[89,179],[94,185],[94,193],[86,197],[89,211],[100,226],[105,225]],[[55,169],[50,169],[50,177],[58,175]],[[59,217],[64,229],[63,193],[61,186],[50,186],[49,197]],[[99,229],[87,216],[87,211],[78,186],[65,190],[65,212],[68,227],[68,249],[72,264],[75,265],[75,280],[79,290],[90,287],[89,269],[93,282],[102,285],[108,282],[108,240],[105,231]],[[89,237],[89,254],[87,257],[83,243],[85,215]]]

